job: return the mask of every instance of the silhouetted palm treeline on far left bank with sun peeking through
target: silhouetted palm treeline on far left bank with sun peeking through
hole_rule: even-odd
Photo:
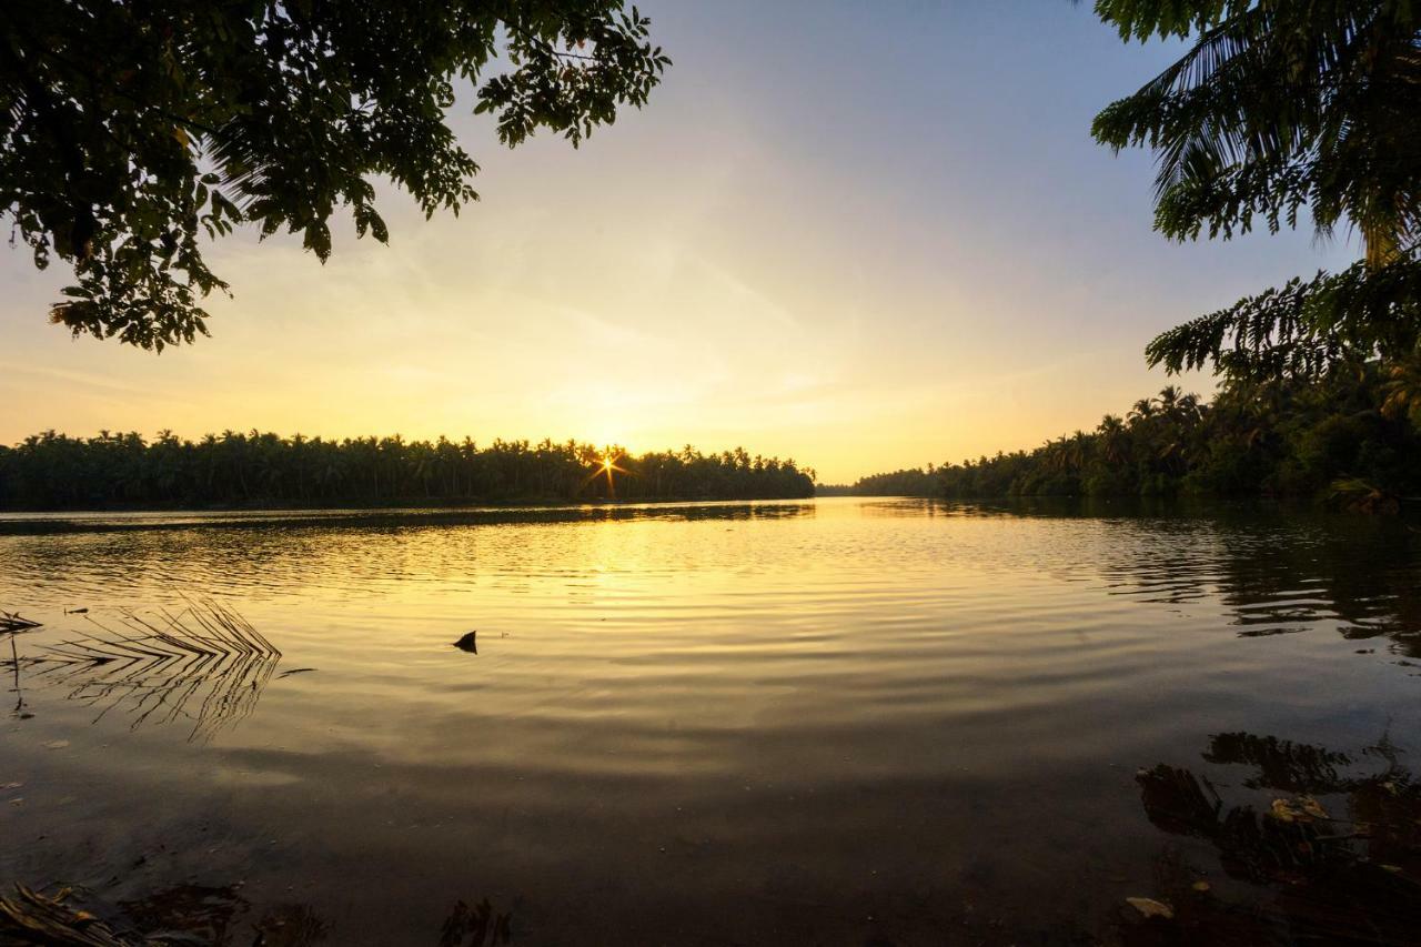
[[[604,461],[612,461],[607,471]],[[611,482],[608,482],[608,475]],[[387,506],[522,501],[779,499],[813,496],[813,471],[742,448],[620,448],[543,441],[476,446],[401,437],[327,441],[276,434],[159,432],[71,438],[47,431],[0,446],[0,508]]]

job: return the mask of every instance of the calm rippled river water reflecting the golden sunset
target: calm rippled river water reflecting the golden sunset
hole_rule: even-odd
[[[1137,771],[1263,808],[1268,752],[1401,772],[1418,546],[878,499],[0,519],[0,609],[45,626],[0,636],[0,882],[432,947],[485,899],[530,944],[1091,943],[1184,877],[1286,940]],[[183,596],[280,660],[53,661]]]

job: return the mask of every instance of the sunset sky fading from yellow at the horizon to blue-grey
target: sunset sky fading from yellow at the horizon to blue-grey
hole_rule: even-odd
[[[0,252],[0,442],[252,429],[693,444],[823,482],[1030,448],[1171,380],[1158,331],[1354,259],[1171,243],[1152,158],[1091,117],[1178,47],[1066,0],[642,0],[674,65],[574,151],[452,115],[482,200],[385,189],[327,264],[243,233],[233,297],[161,355],[48,326],[64,267]],[[1187,375],[1187,390],[1212,380]]]

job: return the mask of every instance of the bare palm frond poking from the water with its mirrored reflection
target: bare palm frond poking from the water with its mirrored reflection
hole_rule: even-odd
[[[145,722],[192,721],[189,739],[210,739],[252,714],[281,653],[242,616],[217,603],[189,603],[180,613],[122,614],[118,627],[84,616],[92,630],[13,654],[16,690],[30,684],[65,690],[67,700],[98,708],[95,722],[118,710]]]

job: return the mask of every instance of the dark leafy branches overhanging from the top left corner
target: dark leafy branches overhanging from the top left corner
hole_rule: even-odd
[[[426,216],[477,193],[446,124],[476,88],[503,144],[574,146],[641,107],[669,60],[622,0],[14,0],[0,7],[0,213],[74,269],[51,320],[162,350],[227,284],[200,242],[330,222],[388,240],[372,178]],[[490,75],[497,64],[502,71]]]

